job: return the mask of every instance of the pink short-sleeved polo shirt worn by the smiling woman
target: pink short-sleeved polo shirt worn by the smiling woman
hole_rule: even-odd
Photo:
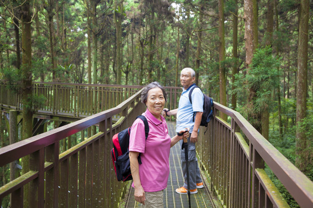
[[[144,122],[136,119],[131,126],[129,151],[141,153],[139,176],[145,192],[158,192],[167,186],[171,138],[164,117],[161,116],[161,122],[148,109],[142,115],[149,124],[147,141]]]

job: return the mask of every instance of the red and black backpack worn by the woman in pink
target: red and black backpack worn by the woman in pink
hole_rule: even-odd
[[[145,124],[146,140],[149,134],[149,124],[145,116],[138,116],[143,120]],[[136,118],[136,119],[137,119]],[[114,171],[118,181],[128,181],[132,180],[130,172],[130,161],[129,161],[129,135],[131,127],[122,130],[120,133],[115,134],[112,138],[113,148],[111,149],[112,161],[114,166]],[[140,153],[138,156],[139,164],[142,164],[140,159]]]

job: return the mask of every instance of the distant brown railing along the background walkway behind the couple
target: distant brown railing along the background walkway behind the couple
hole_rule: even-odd
[[[44,106],[37,109],[38,114],[86,118],[119,105],[141,88],[143,86],[34,82],[33,94],[46,98]],[[181,88],[165,88],[169,96],[167,105],[177,107]],[[0,81],[0,107],[23,109],[22,94],[12,92],[3,81]]]

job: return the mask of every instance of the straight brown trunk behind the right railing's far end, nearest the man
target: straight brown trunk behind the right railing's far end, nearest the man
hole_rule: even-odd
[[[226,104],[226,70],[225,61],[225,28],[224,28],[224,0],[219,0],[219,71],[220,71],[220,103]],[[220,113],[220,117],[227,121],[226,114]]]

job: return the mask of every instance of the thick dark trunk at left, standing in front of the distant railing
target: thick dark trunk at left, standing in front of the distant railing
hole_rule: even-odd
[[[23,130],[22,139],[32,136],[32,72],[31,72],[31,13],[29,1],[22,6],[22,103]],[[22,174],[29,171],[29,157],[22,158]],[[24,205],[28,207],[28,186],[24,188]]]

